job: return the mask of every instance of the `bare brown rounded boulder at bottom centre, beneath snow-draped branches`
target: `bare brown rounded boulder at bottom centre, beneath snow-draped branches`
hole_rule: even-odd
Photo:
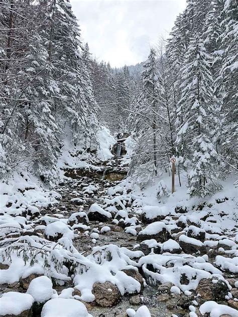
[[[110,307],[115,305],[121,296],[117,286],[111,282],[94,283],[92,293],[95,296],[96,303],[102,307]]]

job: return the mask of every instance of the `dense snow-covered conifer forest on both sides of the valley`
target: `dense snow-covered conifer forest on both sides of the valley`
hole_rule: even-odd
[[[130,74],[91,59],[68,1],[2,2],[2,176],[27,166],[57,180],[64,138],[95,150],[104,124],[133,133],[140,182],[174,155],[191,196],[219,190],[237,171],[236,14],[235,1],[188,1]]]

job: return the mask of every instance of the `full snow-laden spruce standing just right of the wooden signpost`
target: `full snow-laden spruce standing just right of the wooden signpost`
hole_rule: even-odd
[[[211,137],[215,122],[215,100],[209,60],[202,41],[199,38],[192,40],[182,69],[177,135],[178,147],[185,160],[190,160],[190,196],[205,197],[221,188],[218,183],[221,166]]]

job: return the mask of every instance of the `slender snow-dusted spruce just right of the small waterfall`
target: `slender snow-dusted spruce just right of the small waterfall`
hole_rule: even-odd
[[[160,153],[159,135],[159,91],[156,52],[151,49],[144,64],[143,88],[134,104],[137,120],[137,147],[132,157],[129,174],[138,182],[148,182],[158,173],[158,156]],[[162,150],[163,151],[163,150]],[[145,176],[146,175],[146,176]]]

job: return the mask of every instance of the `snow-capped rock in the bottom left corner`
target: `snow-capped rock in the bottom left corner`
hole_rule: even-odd
[[[33,297],[30,294],[7,292],[0,297],[1,317],[31,317]]]

